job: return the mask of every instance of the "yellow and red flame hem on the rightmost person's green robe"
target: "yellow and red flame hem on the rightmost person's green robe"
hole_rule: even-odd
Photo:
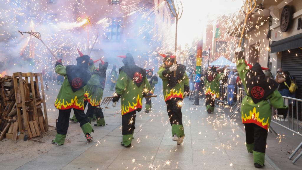
[[[267,118],[266,122],[263,122],[263,120],[265,118],[259,119],[259,112],[256,113],[256,107],[254,107],[253,112],[250,110],[249,111],[249,116],[247,116],[246,114],[243,115],[242,112],[242,123],[255,123],[256,125],[264,128],[264,129],[268,129],[269,124],[269,117]]]

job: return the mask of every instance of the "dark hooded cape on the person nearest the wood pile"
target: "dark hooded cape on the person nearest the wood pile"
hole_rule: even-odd
[[[66,75],[73,93],[82,89],[91,78],[88,70],[89,58],[88,55],[83,55],[76,59],[77,65],[66,66]]]

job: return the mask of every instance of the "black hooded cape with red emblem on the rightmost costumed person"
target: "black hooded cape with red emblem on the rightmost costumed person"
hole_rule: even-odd
[[[278,83],[265,77],[259,63],[254,64],[246,74],[246,88],[255,104],[265,100],[267,96],[278,88]]]

